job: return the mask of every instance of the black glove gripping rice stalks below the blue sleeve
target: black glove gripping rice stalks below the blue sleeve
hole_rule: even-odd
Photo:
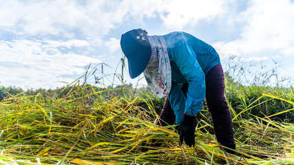
[[[178,125],[178,134],[180,135],[180,146],[183,140],[188,146],[195,144],[195,126],[194,121],[196,117],[190,115],[184,115],[184,120]]]

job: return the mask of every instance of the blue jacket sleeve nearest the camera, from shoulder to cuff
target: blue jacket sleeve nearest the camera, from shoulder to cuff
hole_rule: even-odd
[[[176,45],[174,51],[174,62],[189,83],[187,99],[185,100],[185,113],[187,115],[198,115],[205,98],[205,75],[196,59],[195,52],[187,42]]]

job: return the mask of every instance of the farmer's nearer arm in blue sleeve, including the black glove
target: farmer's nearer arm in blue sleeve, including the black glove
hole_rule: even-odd
[[[195,116],[200,113],[205,97],[205,75],[195,52],[186,42],[176,46],[174,62],[189,83],[183,119],[178,125],[179,142],[182,145],[185,140],[188,146],[192,146],[195,144]]]

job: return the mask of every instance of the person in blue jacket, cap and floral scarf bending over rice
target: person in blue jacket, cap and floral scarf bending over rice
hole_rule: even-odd
[[[131,78],[143,73],[156,96],[167,96],[156,124],[179,124],[180,144],[195,144],[194,121],[206,98],[218,142],[235,149],[224,73],[211,45],[185,32],[149,36],[135,29],[121,36],[120,46]]]

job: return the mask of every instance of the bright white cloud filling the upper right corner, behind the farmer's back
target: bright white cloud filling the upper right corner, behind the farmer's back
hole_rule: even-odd
[[[250,1],[247,10],[235,17],[245,22],[239,39],[218,42],[222,54],[254,54],[277,51],[294,55],[294,3],[289,0]]]

